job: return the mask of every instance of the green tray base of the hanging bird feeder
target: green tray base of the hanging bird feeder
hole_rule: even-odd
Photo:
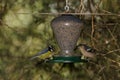
[[[76,62],[88,62],[88,60],[81,59],[80,56],[55,56],[48,62],[52,63],[76,63]]]

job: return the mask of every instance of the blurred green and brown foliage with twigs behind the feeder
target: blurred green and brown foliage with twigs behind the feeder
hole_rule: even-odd
[[[50,26],[64,12],[65,0],[0,0],[0,80],[120,80],[120,0],[69,0],[70,12],[118,15],[79,15],[84,30],[79,43],[104,53],[97,62],[39,63],[29,58],[48,44],[56,46]]]

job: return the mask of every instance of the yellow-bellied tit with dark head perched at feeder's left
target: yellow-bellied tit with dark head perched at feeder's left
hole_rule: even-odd
[[[46,49],[38,52],[37,54],[35,54],[32,58],[30,58],[30,60],[33,60],[37,57],[39,57],[40,59],[47,59],[47,58],[51,58],[52,57],[52,52],[54,51],[53,46],[49,45]]]

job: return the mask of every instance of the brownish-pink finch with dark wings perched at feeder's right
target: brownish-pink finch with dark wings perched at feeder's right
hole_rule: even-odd
[[[85,44],[79,44],[76,49],[79,49],[82,53],[82,55],[86,58],[96,58],[95,55],[95,49],[92,49],[91,47],[85,45]]]

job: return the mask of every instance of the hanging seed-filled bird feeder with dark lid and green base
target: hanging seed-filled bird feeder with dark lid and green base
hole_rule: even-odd
[[[51,22],[54,36],[58,42],[60,52],[50,62],[84,62],[74,52],[80,32],[83,29],[83,22],[76,16],[64,14],[54,18]]]

